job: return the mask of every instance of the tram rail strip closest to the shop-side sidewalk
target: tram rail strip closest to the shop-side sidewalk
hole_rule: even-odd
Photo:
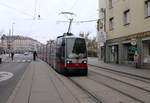
[[[138,80],[138,81],[145,82],[145,83],[150,83],[150,78],[148,78],[148,77],[143,77],[143,76],[140,76],[140,75],[131,74],[131,73],[127,73],[127,72],[122,72],[122,71],[118,71],[118,70],[113,70],[113,69],[110,69],[110,68],[95,66],[95,65],[92,65],[92,64],[88,64],[88,65],[91,66],[91,67],[99,68],[97,70],[101,69],[101,70],[104,70],[106,72],[117,74],[117,75],[127,77],[127,78],[130,78],[130,79]]]

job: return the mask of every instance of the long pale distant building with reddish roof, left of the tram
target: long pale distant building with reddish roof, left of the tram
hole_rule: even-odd
[[[17,53],[24,53],[29,51],[36,51],[37,47],[41,45],[40,42],[30,37],[25,36],[6,36],[1,37],[2,47],[4,51]]]

